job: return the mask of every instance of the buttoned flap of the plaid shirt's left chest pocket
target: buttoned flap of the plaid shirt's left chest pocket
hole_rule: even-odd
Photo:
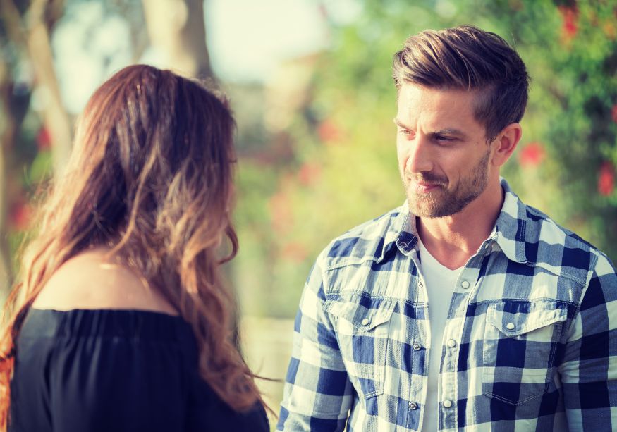
[[[395,300],[373,298],[367,295],[336,296],[326,300],[324,310],[339,319],[345,319],[360,330],[371,331],[390,321]]]

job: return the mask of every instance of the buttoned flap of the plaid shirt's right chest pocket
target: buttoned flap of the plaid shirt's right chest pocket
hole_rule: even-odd
[[[498,302],[489,305],[487,323],[507,336],[518,336],[566,321],[568,311],[557,302]]]

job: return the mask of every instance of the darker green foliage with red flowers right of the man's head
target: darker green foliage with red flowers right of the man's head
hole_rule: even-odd
[[[518,187],[527,201],[614,259],[617,2],[520,4],[517,13],[491,11],[520,40],[534,80],[524,139],[541,142],[546,151],[541,163],[517,167]],[[519,156],[525,154],[522,144]]]

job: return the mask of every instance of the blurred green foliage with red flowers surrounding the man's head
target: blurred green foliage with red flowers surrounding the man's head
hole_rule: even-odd
[[[617,257],[616,0],[363,4],[356,23],[334,29],[333,48],[314,76],[312,100],[289,130],[294,163],[255,175],[250,183],[264,192],[266,182],[278,179],[271,195],[253,197],[259,214],[249,226],[262,231],[250,252],[251,266],[267,286],[264,298],[245,303],[245,309],[293,316],[319,250],[403,202],[391,59],[409,35],[426,28],[473,24],[518,49],[532,89],[523,140],[503,175],[525,202]],[[241,190],[246,186],[240,183]],[[258,204],[260,199],[269,205]],[[240,227],[240,240],[251,236],[257,234]]]

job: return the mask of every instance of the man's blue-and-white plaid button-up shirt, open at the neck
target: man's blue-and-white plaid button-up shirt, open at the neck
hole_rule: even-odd
[[[442,431],[617,430],[615,269],[502,187],[501,214],[460,272],[433,356],[439,406],[424,405],[429,304],[403,204],[319,255],[279,431],[420,431],[426,409]]]

